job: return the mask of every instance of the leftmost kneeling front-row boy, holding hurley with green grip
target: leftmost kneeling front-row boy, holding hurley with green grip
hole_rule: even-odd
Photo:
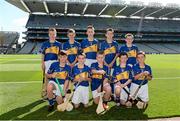
[[[49,82],[47,85],[47,96],[49,101],[48,111],[54,109],[54,103],[57,101],[58,105],[63,103],[63,92],[66,93],[69,83],[69,70],[71,67],[66,64],[67,54],[61,51],[58,55],[59,62],[54,62],[48,70],[47,77]],[[58,82],[57,82],[58,81]],[[60,85],[58,85],[58,83]],[[61,89],[59,89],[59,87]]]

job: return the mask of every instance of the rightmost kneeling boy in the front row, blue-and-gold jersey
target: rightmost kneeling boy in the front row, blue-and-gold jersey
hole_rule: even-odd
[[[133,67],[134,80],[132,81],[130,87],[131,96],[134,95],[136,90],[140,87],[139,91],[134,98],[140,98],[140,101],[136,104],[139,109],[144,109],[147,107],[149,101],[148,95],[148,81],[152,79],[151,67],[145,64],[146,55],[145,52],[138,52],[137,61],[138,63]]]

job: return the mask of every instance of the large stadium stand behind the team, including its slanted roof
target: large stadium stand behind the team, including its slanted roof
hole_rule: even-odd
[[[176,4],[158,3],[144,5],[134,1],[90,0],[6,0],[29,13],[26,24],[27,42],[19,53],[38,53],[42,42],[48,40],[48,28],[57,29],[57,40],[68,40],[69,28],[76,30],[76,40],[86,37],[86,27],[95,27],[95,38],[105,39],[106,29],[115,30],[114,39],[124,43],[124,35],[135,35],[135,44],[146,53],[180,53],[180,11]],[[38,12],[38,13],[37,13]],[[41,13],[41,14],[40,14]]]

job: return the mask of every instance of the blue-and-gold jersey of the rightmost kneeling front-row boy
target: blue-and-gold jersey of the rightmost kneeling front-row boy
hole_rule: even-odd
[[[145,64],[145,68],[140,68],[139,64],[136,64],[135,66],[133,66],[133,75],[134,76],[136,76],[137,74],[140,74],[141,72],[144,72],[144,71],[148,71],[150,73],[150,75],[152,75],[151,67],[146,64]],[[140,77],[137,80],[134,79],[132,82],[140,85],[140,83],[142,81],[144,81],[143,85],[148,83],[148,80],[145,79],[145,76]]]

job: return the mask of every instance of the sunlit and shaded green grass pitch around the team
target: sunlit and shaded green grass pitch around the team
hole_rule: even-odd
[[[110,103],[104,115],[96,106],[72,112],[47,111],[40,98],[42,72],[40,55],[0,55],[0,120],[118,120],[180,116],[180,55],[147,55],[154,79],[149,82],[150,103],[145,112]]]

